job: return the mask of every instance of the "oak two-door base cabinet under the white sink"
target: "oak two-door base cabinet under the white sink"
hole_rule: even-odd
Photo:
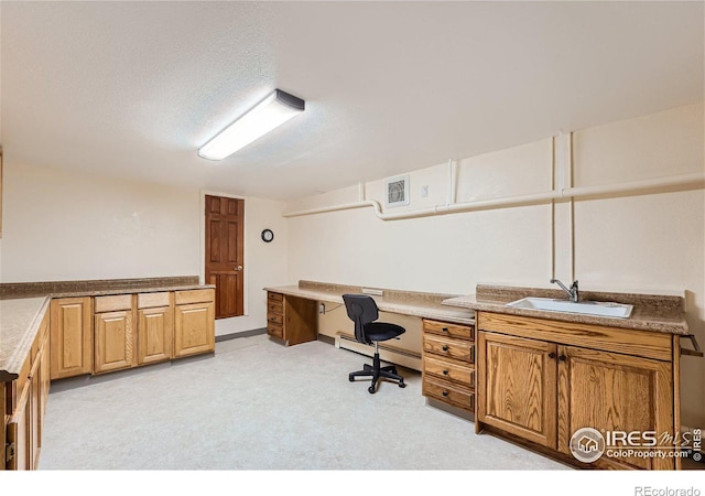
[[[673,443],[641,436],[680,432],[674,336],[486,312],[477,322],[478,432],[489,427],[582,467],[680,468]],[[584,428],[605,436],[590,463],[571,450]]]

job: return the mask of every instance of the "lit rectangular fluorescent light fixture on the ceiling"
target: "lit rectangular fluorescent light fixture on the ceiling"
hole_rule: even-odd
[[[305,101],[301,98],[274,89],[247,114],[200,147],[198,157],[223,160],[303,112],[304,108]]]

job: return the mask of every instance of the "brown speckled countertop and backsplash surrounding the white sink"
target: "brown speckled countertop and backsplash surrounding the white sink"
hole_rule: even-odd
[[[525,296],[565,298],[561,290],[478,284],[475,294],[451,298],[444,300],[443,304],[471,311],[479,310],[510,315],[533,316],[554,321],[577,322],[582,324],[606,325],[611,327],[670,334],[688,334],[688,326],[685,321],[685,300],[682,296],[595,291],[581,292],[581,299],[583,300],[611,301],[633,305],[633,311],[629,319],[582,315],[507,306],[507,303]]]

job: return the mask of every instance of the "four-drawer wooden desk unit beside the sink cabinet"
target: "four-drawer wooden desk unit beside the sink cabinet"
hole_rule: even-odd
[[[422,393],[475,412],[475,326],[423,320]]]

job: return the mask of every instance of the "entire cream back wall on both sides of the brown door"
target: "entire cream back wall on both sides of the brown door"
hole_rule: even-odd
[[[199,276],[204,192],[12,164],[6,157],[1,282]],[[279,202],[245,198],[246,315],[216,335],[267,325],[262,288],[286,280]],[[274,240],[262,242],[271,228]]]

